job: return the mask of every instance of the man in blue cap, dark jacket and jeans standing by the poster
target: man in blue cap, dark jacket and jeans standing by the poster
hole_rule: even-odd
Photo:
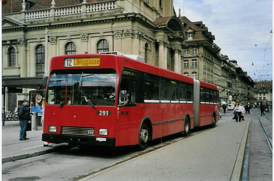
[[[29,115],[29,101],[24,100],[23,104],[19,107],[19,120],[21,121],[21,129],[20,129],[20,141],[29,140],[27,138],[27,122],[30,120]]]

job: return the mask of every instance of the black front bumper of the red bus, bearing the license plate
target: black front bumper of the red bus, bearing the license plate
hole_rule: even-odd
[[[42,134],[42,141],[56,143],[56,144],[68,143],[68,144],[74,144],[74,145],[84,144],[84,145],[115,146],[115,138],[49,134],[49,133]]]

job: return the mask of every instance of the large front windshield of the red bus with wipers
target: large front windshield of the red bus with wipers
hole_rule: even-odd
[[[49,78],[46,101],[48,104],[114,106],[116,77],[114,70],[55,71]]]

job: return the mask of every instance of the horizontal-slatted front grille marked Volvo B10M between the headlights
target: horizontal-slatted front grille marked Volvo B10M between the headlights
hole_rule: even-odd
[[[61,126],[61,134],[94,136],[94,128]]]

